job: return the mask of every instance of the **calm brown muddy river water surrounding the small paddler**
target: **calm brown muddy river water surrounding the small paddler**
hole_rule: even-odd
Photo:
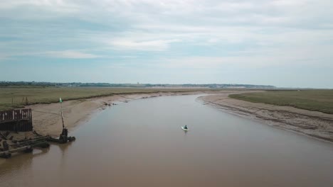
[[[332,144],[196,97],[112,106],[75,130],[70,145],[0,159],[0,186],[333,186]]]

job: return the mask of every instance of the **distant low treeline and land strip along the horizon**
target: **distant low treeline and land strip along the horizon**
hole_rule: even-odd
[[[110,83],[55,83],[55,82],[39,82],[39,81],[0,81],[0,86],[41,86],[41,87],[202,87],[211,89],[276,89],[275,86],[269,85],[252,85],[252,84],[110,84]]]

